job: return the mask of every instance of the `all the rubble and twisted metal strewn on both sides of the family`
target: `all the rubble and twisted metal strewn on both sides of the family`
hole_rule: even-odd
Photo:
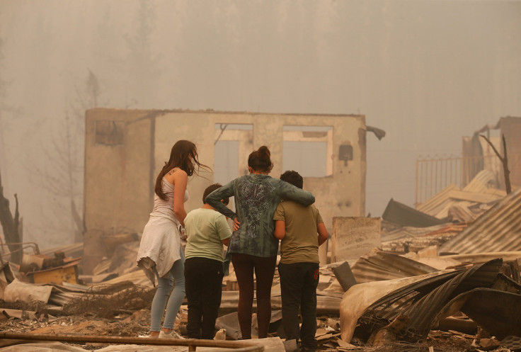
[[[450,186],[416,209],[391,200],[381,233],[370,234],[371,246],[359,246],[357,256],[333,229],[333,262],[321,266],[317,288],[317,351],[521,351],[521,188],[504,195],[489,187],[489,178],[482,171],[465,188]],[[362,236],[380,224],[366,220],[359,222]],[[107,256],[92,275],[78,270],[79,246],[31,254],[23,266],[4,263],[0,329],[146,336],[155,288],[135,264],[139,236],[103,241]],[[344,249],[350,252],[341,259]],[[230,266],[216,324],[228,340],[241,339],[238,300]],[[275,272],[270,341],[280,344],[281,306]],[[175,327],[181,334],[186,312],[183,305]],[[255,335],[255,317],[252,330]]]

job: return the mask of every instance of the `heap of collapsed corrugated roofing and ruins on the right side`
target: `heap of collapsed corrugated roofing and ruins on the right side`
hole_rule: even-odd
[[[478,138],[491,128],[502,132],[498,147],[490,136],[483,140],[501,167],[487,161]],[[472,157],[478,158],[459,164],[461,188],[450,183],[416,209],[392,199],[387,205],[382,215],[387,252],[373,250],[352,267],[357,284],[340,305],[344,341],[356,331],[371,344],[418,341],[448,327],[477,332],[478,340],[495,336],[502,340],[496,347],[520,350],[521,118],[502,118],[464,138],[464,156],[473,145],[479,152]]]

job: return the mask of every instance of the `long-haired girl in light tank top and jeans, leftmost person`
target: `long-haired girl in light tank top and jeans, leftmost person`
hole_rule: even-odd
[[[157,176],[154,209],[139,244],[137,265],[154,285],[155,278],[158,279],[158,288],[151,306],[151,337],[181,337],[173,331],[173,323],[185,298],[185,258],[181,237],[184,237],[182,232],[186,217],[184,203],[188,200],[186,186],[188,176],[194,174],[195,165],[197,168],[207,168],[200,164],[193,142],[179,140],[173,144],[170,159]],[[165,307],[166,315],[161,329]]]

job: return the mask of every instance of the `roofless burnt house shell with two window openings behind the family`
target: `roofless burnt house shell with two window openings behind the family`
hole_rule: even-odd
[[[200,161],[213,171],[190,181],[187,209],[200,207],[206,186],[247,173],[248,154],[264,144],[271,174],[297,169],[331,230],[333,217],[364,215],[368,130],[384,135],[367,127],[364,115],[87,110],[84,270],[105,256],[105,238],[142,232],[156,175],[177,140],[195,142]],[[326,254],[321,257],[325,263]]]

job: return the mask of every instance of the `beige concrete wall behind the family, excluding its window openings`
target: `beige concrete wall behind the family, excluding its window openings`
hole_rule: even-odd
[[[246,166],[248,154],[265,144],[272,153],[273,177],[284,171],[282,140],[285,125],[333,127],[333,145],[330,148],[332,175],[304,178],[304,188],[316,196],[316,207],[330,231],[333,217],[364,215],[366,147],[363,115],[96,108],[86,113],[86,272],[104,255],[103,234],[142,232],[153,203],[156,175],[168,160],[170,149],[177,140],[195,142],[200,161],[214,168],[217,123],[253,125],[253,147],[248,151],[240,150],[239,157],[244,160],[239,160],[239,166]],[[112,127],[115,131],[110,129]],[[353,160],[347,164],[338,160],[340,145],[346,143],[353,147]],[[203,171],[200,176],[190,178],[190,199],[185,205],[188,211],[200,207],[202,192],[211,183],[213,176],[210,172]]]

